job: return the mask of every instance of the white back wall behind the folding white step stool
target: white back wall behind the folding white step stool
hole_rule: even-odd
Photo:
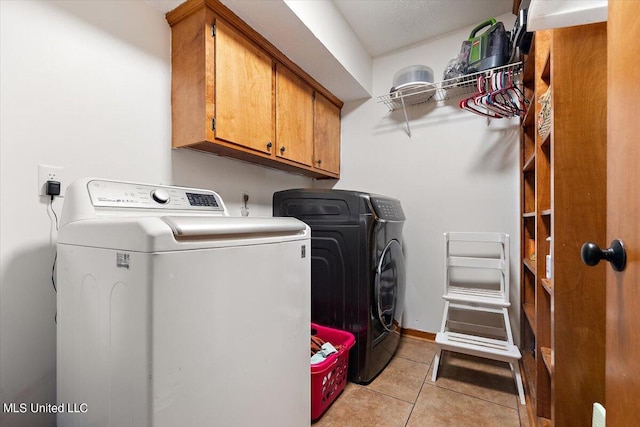
[[[507,28],[514,17],[501,19]],[[442,79],[472,27],[374,60],[373,92],[389,93],[393,75],[415,64]],[[408,109],[409,138],[401,111],[377,99],[342,110],[342,174],[336,188],[359,189],[401,200],[407,216],[404,249],[407,295],[404,327],[437,332],[442,300],[446,231],[502,231],[511,235],[511,321],[519,340],[518,120],[487,120],[454,103]]]

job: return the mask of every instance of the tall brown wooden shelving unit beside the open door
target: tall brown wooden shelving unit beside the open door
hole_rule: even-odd
[[[593,402],[604,401],[605,269],[584,266],[580,247],[606,239],[606,58],[600,23],[538,31],[524,59],[521,336],[536,426],[589,425]]]

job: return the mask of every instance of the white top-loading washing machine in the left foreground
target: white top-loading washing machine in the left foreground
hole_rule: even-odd
[[[57,258],[58,427],[310,421],[310,229],[82,179]]]

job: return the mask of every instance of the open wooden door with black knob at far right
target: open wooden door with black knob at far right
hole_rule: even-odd
[[[640,408],[640,2],[609,0],[607,242],[627,264],[607,266],[605,406],[608,426],[638,425]]]

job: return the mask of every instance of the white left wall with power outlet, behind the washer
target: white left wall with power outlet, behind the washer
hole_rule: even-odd
[[[312,181],[171,150],[170,28],[142,1],[0,1],[0,401],[55,402],[56,231],[38,164],[82,176],[218,190],[233,215],[271,214]],[[53,202],[58,217],[63,199]],[[0,425],[55,425],[7,414]]]

